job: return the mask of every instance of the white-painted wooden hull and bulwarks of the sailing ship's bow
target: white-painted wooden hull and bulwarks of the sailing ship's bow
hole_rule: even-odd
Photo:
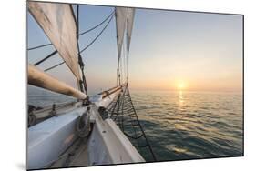
[[[90,105],[90,122],[94,125],[85,144],[86,155],[81,156],[82,159],[77,156],[77,162],[74,160],[71,166],[145,162],[113,120],[103,120],[97,112],[99,106],[107,107],[119,93],[120,91],[104,99],[100,96],[92,97],[94,103]],[[77,139],[77,118],[86,111],[87,106],[77,106],[65,114],[53,116],[36,126],[29,127],[27,169],[52,166]]]

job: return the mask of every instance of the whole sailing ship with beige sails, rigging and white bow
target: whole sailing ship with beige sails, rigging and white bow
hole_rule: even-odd
[[[146,161],[138,152],[141,148],[147,150],[151,160],[155,161],[156,157],[129,94],[128,75],[125,82],[120,79],[123,76],[120,72],[120,59],[123,57],[128,62],[135,9],[115,7],[99,24],[105,27],[89,45],[93,45],[113,18],[116,19],[117,85],[97,95],[88,96],[81,53],[89,45],[79,49],[79,36],[86,33],[79,33],[79,5],[76,5],[77,15],[69,4],[28,1],[26,6],[49,38],[51,44],[48,45],[54,45],[56,49],[36,64],[28,65],[28,84],[77,98],[75,102],[28,111],[26,168],[141,163]],[[46,45],[39,47],[43,46]],[[62,63],[45,71],[36,67],[56,54],[62,57]],[[68,66],[77,79],[77,88],[46,73],[58,65]]]

